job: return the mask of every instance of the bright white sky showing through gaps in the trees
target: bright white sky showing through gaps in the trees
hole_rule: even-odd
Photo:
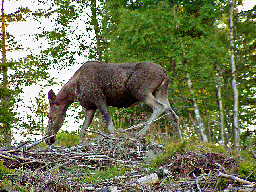
[[[255,4],[256,4],[256,0],[244,0],[243,2],[243,6],[239,7],[239,10],[243,10],[243,11],[247,11],[250,10]],[[14,13],[15,11],[17,11],[17,9],[19,7],[27,7],[31,10],[31,11],[35,11],[39,8],[38,6],[38,1],[35,0],[6,0],[5,1],[5,5],[4,5],[4,9],[5,9],[5,13]],[[42,8],[42,5],[41,7]],[[33,34],[36,33],[40,33],[39,27],[45,27],[48,26],[49,28],[51,28],[51,22],[47,19],[45,19],[41,24],[38,21],[34,21],[34,20],[27,20],[27,22],[16,22],[16,23],[12,23],[7,27],[7,31],[9,32],[9,34],[13,34],[15,37],[16,41],[20,41],[20,44],[23,45],[24,47],[29,47],[35,50],[38,50],[38,42],[33,41]],[[25,56],[26,52],[24,51],[15,51],[13,53],[7,53],[7,59],[18,59],[19,57]],[[83,61],[86,62],[86,61]],[[82,62],[81,62],[82,63]],[[56,70],[50,70],[49,73],[51,76],[54,76],[55,78],[57,78],[59,80],[59,82],[62,82],[63,80],[65,82],[67,82],[67,80],[69,80],[73,73],[75,73],[75,71],[77,71],[77,69],[80,68],[81,65],[76,65],[76,66],[72,66],[69,67],[69,69],[66,69],[63,72],[58,73],[59,71]],[[67,70],[68,73],[67,73]],[[61,87],[59,86],[49,86],[49,88],[47,90],[45,90],[45,94],[48,94],[48,91],[50,89],[53,89],[54,92],[57,94],[57,92],[60,90]],[[25,91],[28,91],[28,96],[26,96],[26,98],[34,98],[35,96],[38,95],[38,92],[40,91],[39,86],[38,85],[33,85],[30,87],[26,87],[24,88]],[[31,91],[32,90],[32,91]],[[48,98],[46,98],[46,100],[48,100]],[[20,114],[20,115],[26,115],[26,114]],[[47,118],[46,118],[46,124],[47,124]],[[82,122],[80,122],[82,123]],[[69,131],[72,130],[76,130],[78,125],[75,125],[72,120],[69,121],[68,123],[69,125],[63,125],[63,127],[61,129],[66,129]]]

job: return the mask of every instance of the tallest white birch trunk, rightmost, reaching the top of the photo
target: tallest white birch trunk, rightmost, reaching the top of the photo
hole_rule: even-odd
[[[229,27],[230,27],[230,47],[231,47],[231,76],[232,76],[232,88],[234,92],[234,107],[233,107],[233,128],[234,128],[234,140],[237,142],[235,147],[238,148],[240,144],[239,127],[238,127],[238,89],[236,83],[236,65],[235,65],[235,53],[234,53],[234,24],[233,24],[233,11],[235,7],[235,0],[232,0],[230,6],[229,15]]]

